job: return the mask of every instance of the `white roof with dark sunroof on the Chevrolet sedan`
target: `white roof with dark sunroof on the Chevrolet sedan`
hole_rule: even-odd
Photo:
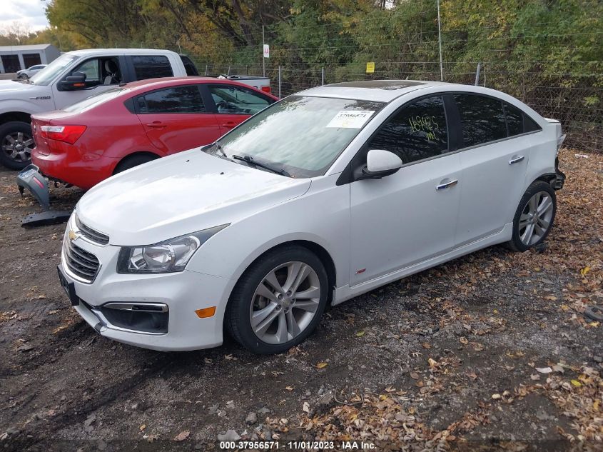
[[[431,86],[452,86],[442,81],[360,80],[317,86],[298,93],[300,96],[338,97],[364,101],[390,102],[402,94]]]

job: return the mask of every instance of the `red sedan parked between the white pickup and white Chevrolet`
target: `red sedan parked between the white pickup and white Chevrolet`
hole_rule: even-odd
[[[213,143],[277,100],[226,79],[137,81],[31,116],[31,160],[49,179],[86,190],[133,166]]]

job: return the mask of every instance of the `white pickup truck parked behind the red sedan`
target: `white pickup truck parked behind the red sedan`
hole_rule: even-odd
[[[0,81],[0,164],[29,164],[31,114],[62,109],[120,83],[187,75],[198,75],[194,64],[173,51],[95,49],[63,54],[31,79]]]

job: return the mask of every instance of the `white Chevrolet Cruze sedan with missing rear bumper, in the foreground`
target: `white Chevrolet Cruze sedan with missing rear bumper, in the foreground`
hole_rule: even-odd
[[[496,243],[544,241],[557,121],[478,86],[308,89],[216,143],[86,193],[59,277],[108,338],[256,353],[303,341],[325,306]]]

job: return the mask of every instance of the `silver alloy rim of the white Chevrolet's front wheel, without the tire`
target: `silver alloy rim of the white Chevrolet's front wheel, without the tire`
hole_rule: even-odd
[[[320,280],[307,263],[293,261],[273,268],[253,293],[251,328],[260,341],[280,344],[308,328],[320,306]]]

